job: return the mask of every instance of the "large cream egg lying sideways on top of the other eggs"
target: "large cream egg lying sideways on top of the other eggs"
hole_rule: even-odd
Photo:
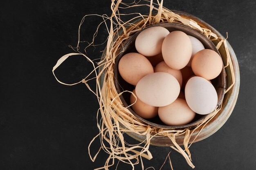
[[[137,97],[151,106],[167,106],[177,99],[180,84],[171,74],[151,73],[139,80],[135,92]]]

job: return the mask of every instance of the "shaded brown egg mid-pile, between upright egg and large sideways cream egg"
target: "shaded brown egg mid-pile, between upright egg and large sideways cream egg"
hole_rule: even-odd
[[[182,74],[181,74],[180,70],[174,70],[174,69],[170,68],[169,66],[167,66],[167,64],[165,62],[160,62],[159,64],[157,64],[157,66],[155,66],[154,72],[165,72],[165,73],[169,73],[169,74],[173,75],[178,80],[180,87],[181,87]]]

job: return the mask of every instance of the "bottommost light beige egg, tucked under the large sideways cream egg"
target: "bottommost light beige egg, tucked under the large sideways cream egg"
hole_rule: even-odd
[[[189,108],[186,100],[180,98],[167,106],[159,107],[158,115],[169,126],[185,125],[195,118],[195,112]]]

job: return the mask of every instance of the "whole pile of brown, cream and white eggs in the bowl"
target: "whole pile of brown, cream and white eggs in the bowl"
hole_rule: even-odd
[[[132,109],[142,118],[156,117],[169,126],[191,122],[196,114],[215,110],[218,95],[211,84],[222,71],[222,59],[182,31],[153,26],[135,40],[138,53],[121,57],[121,77],[135,86]]]

